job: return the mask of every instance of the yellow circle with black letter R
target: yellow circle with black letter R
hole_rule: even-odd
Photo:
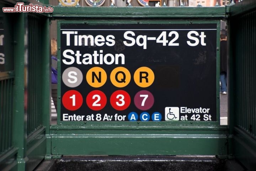
[[[149,87],[151,84],[153,84],[155,75],[150,68],[146,66],[142,66],[135,71],[133,78],[134,78],[134,82],[138,86]]]

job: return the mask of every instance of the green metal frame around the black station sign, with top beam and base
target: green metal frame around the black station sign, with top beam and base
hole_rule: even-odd
[[[216,23],[219,40],[220,20],[225,7],[61,7],[51,15],[60,23]],[[69,18],[70,20],[65,20]],[[60,50],[58,42],[58,49]],[[219,47],[219,41],[217,41]],[[219,48],[217,48],[219,49]],[[60,51],[58,50],[58,57]],[[217,50],[216,82],[219,82]],[[58,63],[58,68],[60,64]],[[60,70],[58,70],[60,72]],[[60,80],[60,73],[58,73]],[[216,84],[217,84],[216,83]],[[216,85],[219,111],[219,84]],[[60,95],[60,83],[58,83]],[[60,102],[60,97],[59,100]],[[60,103],[58,103],[60,113]],[[217,113],[219,120],[219,112]],[[68,125],[67,125],[68,124]],[[178,124],[178,125],[177,125]],[[51,125],[51,154],[62,155],[228,155],[228,126],[217,122],[60,122]],[[49,147],[48,147],[49,148]]]

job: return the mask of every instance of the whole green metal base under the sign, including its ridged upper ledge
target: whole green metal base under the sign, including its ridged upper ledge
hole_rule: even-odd
[[[227,130],[222,125],[52,125],[51,151],[54,156],[226,156]]]

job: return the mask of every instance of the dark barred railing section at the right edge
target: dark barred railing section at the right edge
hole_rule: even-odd
[[[256,10],[236,22],[236,124],[256,139]]]

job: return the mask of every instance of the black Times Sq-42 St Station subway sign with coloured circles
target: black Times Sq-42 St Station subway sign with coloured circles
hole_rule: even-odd
[[[58,25],[58,123],[219,123],[217,23]]]

